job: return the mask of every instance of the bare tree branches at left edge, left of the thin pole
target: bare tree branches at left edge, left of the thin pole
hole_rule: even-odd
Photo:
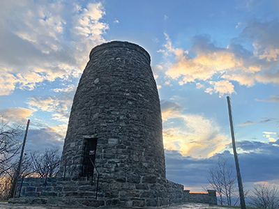
[[[0,176],[5,176],[13,167],[12,160],[19,153],[20,142],[17,137],[22,135],[20,126],[11,127],[1,117],[0,122]]]

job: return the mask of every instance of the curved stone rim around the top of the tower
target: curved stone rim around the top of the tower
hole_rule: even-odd
[[[150,63],[150,55],[149,53],[140,45],[137,45],[133,42],[128,42],[128,41],[120,41],[120,40],[114,40],[111,42],[105,42],[103,44],[97,45],[96,47],[93,47],[93,49],[91,49],[89,58],[91,59],[93,54],[95,54],[96,52],[103,50],[103,49],[109,49],[112,47],[126,47],[128,49],[133,49],[137,52],[141,52],[142,54],[144,54],[144,56],[146,56],[146,59],[148,59],[149,63]]]

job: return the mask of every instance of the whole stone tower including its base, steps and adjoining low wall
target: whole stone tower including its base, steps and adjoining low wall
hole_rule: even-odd
[[[100,176],[93,173],[96,165]],[[216,203],[165,178],[162,120],[150,56],[113,41],[92,49],[75,93],[60,177],[24,178],[11,203],[165,206]]]

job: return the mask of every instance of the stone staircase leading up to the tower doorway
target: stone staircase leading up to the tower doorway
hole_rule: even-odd
[[[21,186],[22,185],[22,186]],[[20,189],[21,187],[21,189]],[[98,189],[100,192],[100,189]],[[20,195],[20,198],[18,198]],[[103,197],[102,192],[98,197]],[[47,204],[59,206],[104,206],[96,200],[96,183],[82,178],[24,178],[17,184],[15,198],[9,203]]]

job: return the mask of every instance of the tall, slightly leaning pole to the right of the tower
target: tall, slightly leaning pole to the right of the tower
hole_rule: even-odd
[[[236,153],[236,145],[235,145],[235,139],[234,139],[234,126],[232,124],[232,110],[231,110],[231,103],[229,101],[229,96],[227,96],[227,107],[229,108],[229,124],[231,126],[232,149],[234,150],[234,161],[236,164],[237,182],[239,183],[239,197],[240,197],[241,209],[246,209],[243,185],[242,185],[241,174],[240,174],[240,169],[239,169],[239,160],[237,158],[237,153]]]

